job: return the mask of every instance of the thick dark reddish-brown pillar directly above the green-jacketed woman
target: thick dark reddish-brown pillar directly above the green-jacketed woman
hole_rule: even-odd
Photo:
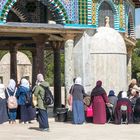
[[[38,35],[33,38],[36,43],[36,50],[35,50],[35,70],[34,74],[45,74],[44,71],[44,49],[45,49],[45,42],[47,37],[45,35]]]

